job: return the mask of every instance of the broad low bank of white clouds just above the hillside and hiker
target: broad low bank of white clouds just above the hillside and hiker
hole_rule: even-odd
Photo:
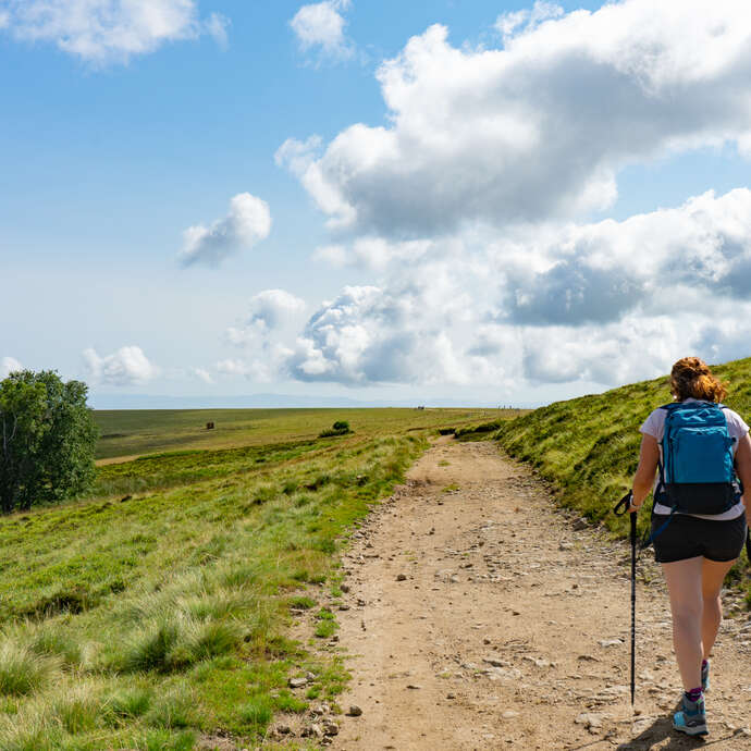
[[[257,359],[225,372],[354,386],[498,384],[510,394],[651,378],[687,354],[751,354],[748,188],[620,222],[333,247],[322,255],[336,262],[376,257],[369,268],[381,279],[344,287],[296,332],[257,319]]]

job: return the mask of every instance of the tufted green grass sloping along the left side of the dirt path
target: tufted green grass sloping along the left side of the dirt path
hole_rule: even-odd
[[[345,681],[286,638],[421,433],[181,452],[101,468],[99,497],[0,519],[0,748],[254,746]],[[321,611],[321,633],[336,628]],[[312,694],[311,694],[312,695]]]

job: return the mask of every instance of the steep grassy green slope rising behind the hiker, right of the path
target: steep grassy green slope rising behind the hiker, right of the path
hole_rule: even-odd
[[[725,404],[751,419],[751,358],[713,368],[727,382]],[[514,457],[528,461],[559,490],[564,506],[626,534],[628,519],[611,509],[630,488],[639,459],[639,426],[670,402],[668,378],[582,396],[502,422],[495,438]],[[650,501],[651,503],[651,501]],[[649,514],[639,515],[640,532]]]

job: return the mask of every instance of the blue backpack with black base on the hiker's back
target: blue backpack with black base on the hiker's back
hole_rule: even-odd
[[[663,459],[655,501],[673,514],[715,515],[734,506],[741,495],[731,439],[723,405],[677,402],[665,409]]]

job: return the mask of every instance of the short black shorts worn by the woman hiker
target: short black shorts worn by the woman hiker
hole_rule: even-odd
[[[652,517],[652,534],[667,520],[667,516]],[[675,563],[703,556],[710,561],[735,561],[746,542],[746,515],[727,521],[697,519],[674,514],[670,524],[654,539],[657,563]]]

